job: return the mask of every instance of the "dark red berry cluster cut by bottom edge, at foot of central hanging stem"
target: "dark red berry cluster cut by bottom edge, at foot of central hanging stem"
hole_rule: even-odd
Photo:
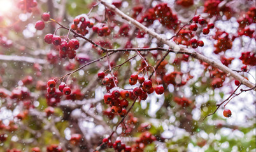
[[[115,141],[115,143],[111,143],[110,139],[104,138],[103,139],[103,144],[108,146],[108,148],[115,149],[118,152],[122,151],[122,150],[124,150],[124,152],[131,152],[132,151],[132,148],[130,146],[126,146],[124,143],[121,143],[120,140]]]

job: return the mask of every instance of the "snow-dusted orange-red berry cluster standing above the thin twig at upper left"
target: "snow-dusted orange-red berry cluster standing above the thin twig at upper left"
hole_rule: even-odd
[[[94,23],[90,22],[87,15],[83,15],[77,17],[73,20],[73,24],[71,25],[71,29],[75,30],[78,34],[86,35],[89,33],[89,30],[86,28],[94,27]]]

